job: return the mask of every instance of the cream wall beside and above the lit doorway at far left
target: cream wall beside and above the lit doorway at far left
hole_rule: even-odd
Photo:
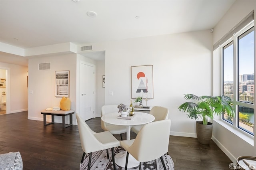
[[[6,77],[6,113],[28,110],[28,67],[0,63],[0,69],[7,70]]]

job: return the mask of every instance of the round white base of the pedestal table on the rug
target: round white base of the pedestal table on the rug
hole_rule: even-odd
[[[115,162],[118,166],[125,167],[126,154],[127,151],[119,152],[118,154],[116,154]],[[127,168],[132,168],[138,166],[139,164],[140,162],[136,160],[131,154],[129,154]]]

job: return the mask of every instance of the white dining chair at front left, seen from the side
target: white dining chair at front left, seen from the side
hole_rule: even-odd
[[[114,147],[120,146],[120,141],[117,140],[109,131],[99,133],[94,132],[77,113],[76,120],[78,124],[81,146],[84,151],[81,163],[84,161],[85,154],[89,153],[88,170],[90,170],[92,152],[106,149],[107,158],[109,159],[108,148],[111,148],[113,166],[114,169],[116,169]]]

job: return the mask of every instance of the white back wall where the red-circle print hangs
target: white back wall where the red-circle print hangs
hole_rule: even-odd
[[[195,121],[178,111],[183,94],[210,95],[212,33],[209,30],[95,43],[105,50],[105,104],[131,100],[131,66],[153,65],[154,99],[148,105],[169,109],[171,134],[196,136]],[[113,91],[113,96],[108,92]]]

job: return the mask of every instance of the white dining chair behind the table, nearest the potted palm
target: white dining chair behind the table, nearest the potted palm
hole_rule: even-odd
[[[152,109],[150,110],[149,114],[153,115],[155,117],[155,121],[162,121],[165,119],[168,119],[168,113],[169,113],[169,109],[167,109],[166,107],[160,107],[160,106],[154,106],[152,107]],[[140,131],[140,129],[143,127],[144,125],[136,125],[136,126],[132,126],[132,131],[136,134],[138,134],[138,132]]]

